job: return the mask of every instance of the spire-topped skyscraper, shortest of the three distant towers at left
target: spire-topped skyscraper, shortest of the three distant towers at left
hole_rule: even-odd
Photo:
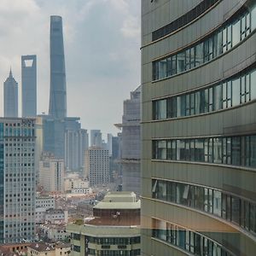
[[[3,111],[4,117],[18,117],[18,83],[11,70],[3,83]]]

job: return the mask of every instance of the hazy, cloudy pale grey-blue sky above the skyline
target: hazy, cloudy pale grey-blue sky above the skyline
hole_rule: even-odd
[[[38,113],[49,108],[49,16],[61,15],[67,113],[84,129],[116,134],[123,101],[140,84],[140,0],[0,0],[1,115],[9,67],[38,55]],[[19,102],[21,103],[21,102]],[[20,111],[21,109],[19,109]]]

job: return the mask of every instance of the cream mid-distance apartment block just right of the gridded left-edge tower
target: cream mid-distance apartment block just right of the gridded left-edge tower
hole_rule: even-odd
[[[45,191],[63,191],[64,160],[44,154],[39,162],[39,183]]]

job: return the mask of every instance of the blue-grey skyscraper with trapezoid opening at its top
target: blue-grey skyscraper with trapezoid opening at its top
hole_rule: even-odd
[[[37,55],[21,56],[22,117],[37,116]]]

